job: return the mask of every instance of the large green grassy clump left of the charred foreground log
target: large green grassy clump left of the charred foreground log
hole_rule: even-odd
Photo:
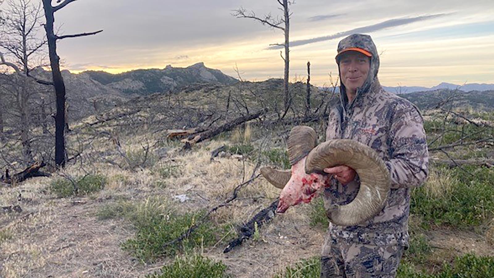
[[[134,238],[125,241],[122,247],[142,262],[152,262],[160,257],[174,256],[181,251],[210,246],[230,231],[228,225],[213,225],[206,221],[181,242],[165,246],[194,226],[203,215],[203,212],[179,214],[166,201],[158,198],[148,198],[139,204],[121,201],[103,207],[98,212],[98,218],[102,220],[130,220],[137,231]],[[233,237],[234,234],[230,236]]]

